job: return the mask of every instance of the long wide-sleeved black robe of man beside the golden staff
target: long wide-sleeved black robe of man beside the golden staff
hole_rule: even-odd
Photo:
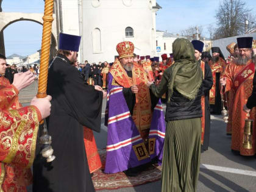
[[[49,68],[47,93],[52,96],[47,122],[56,158],[46,163],[37,142],[33,191],[94,191],[82,126],[100,131],[102,92],[85,85],[79,71],[58,55]]]

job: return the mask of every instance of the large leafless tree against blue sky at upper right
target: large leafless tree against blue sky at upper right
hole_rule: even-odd
[[[252,10],[246,8],[246,3],[241,0],[223,0],[216,12],[218,28],[213,38],[233,37],[244,34],[245,21],[254,22]]]

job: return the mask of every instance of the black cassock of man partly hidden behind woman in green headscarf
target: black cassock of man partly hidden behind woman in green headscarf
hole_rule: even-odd
[[[202,145],[203,150],[207,150],[210,139],[210,102],[209,102],[209,91],[213,86],[213,75],[212,70],[208,63],[205,63],[204,67],[204,80],[202,82],[202,91],[205,96],[205,128],[204,128],[204,143]]]

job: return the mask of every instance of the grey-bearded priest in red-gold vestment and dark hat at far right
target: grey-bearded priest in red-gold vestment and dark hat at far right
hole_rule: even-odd
[[[255,63],[252,61],[252,37],[237,38],[240,55],[237,60],[227,66],[220,82],[226,85],[225,91],[233,92],[232,109],[232,144],[234,154],[254,155],[255,154],[255,108],[249,113],[249,118],[254,120],[252,132],[252,149],[243,147],[244,122],[247,113],[243,107],[252,93],[252,80],[255,73]]]

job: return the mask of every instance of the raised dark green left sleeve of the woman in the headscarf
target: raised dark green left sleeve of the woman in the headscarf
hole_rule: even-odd
[[[157,98],[160,98],[168,90],[168,79],[169,79],[168,73],[165,70],[160,84],[157,87],[155,86],[155,84],[151,85],[151,87],[150,87],[151,91]]]

